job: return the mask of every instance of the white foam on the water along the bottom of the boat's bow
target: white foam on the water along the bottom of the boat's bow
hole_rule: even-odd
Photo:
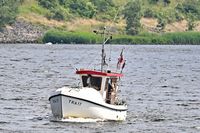
[[[62,119],[57,119],[57,118],[52,118],[50,121],[52,122],[72,122],[72,123],[93,123],[93,122],[103,122],[103,119],[92,119],[92,118],[74,118],[74,117],[69,117],[69,118],[62,118]]]

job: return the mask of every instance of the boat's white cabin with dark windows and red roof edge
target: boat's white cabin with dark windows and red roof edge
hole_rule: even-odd
[[[118,80],[123,74],[100,72],[95,70],[78,70],[83,87],[91,87],[100,92],[108,104],[115,104],[118,90]]]

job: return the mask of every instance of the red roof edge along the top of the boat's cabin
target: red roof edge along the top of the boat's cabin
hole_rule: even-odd
[[[76,74],[91,74],[91,75],[99,75],[99,76],[108,76],[108,77],[122,77],[123,74],[120,73],[106,73],[95,70],[77,70]]]

